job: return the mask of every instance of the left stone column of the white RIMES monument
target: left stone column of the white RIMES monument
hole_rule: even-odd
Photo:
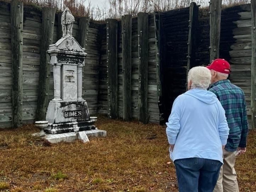
[[[53,101],[61,101],[61,64],[55,63],[53,67],[53,85],[54,85],[54,95]]]

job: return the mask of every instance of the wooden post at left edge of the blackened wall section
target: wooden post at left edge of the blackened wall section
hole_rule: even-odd
[[[163,90],[162,90],[162,81],[161,81],[161,47],[163,46],[161,41],[161,32],[160,32],[160,14],[154,12],[154,24],[155,24],[155,58],[157,64],[157,96],[158,96],[158,108],[159,108],[159,123],[162,124],[164,121],[164,105],[163,105]]]

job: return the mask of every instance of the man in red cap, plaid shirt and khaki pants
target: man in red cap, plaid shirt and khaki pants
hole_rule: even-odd
[[[227,78],[230,65],[224,59],[214,60],[210,66],[211,83],[209,91],[214,93],[223,106],[229,125],[229,136],[223,150],[223,162],[220,176],[214,192],[239,192],[235,172],[235,154],[245,153],[248,135],[248,122],[244,92]]]

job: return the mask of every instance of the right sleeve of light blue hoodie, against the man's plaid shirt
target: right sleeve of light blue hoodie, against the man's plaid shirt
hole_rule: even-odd
[[[219,116],[219,124],[218,124],[218,131],[220,134],[220,140],[222,145],[227,144],[229,128],[227,118],[225,116],[225,110],[223,109],[221,103],[218,101],[220,116]]]

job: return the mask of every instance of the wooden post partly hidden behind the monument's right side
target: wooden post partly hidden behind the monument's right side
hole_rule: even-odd
[[[85,48],[87,47],[87,37],[89,32],[89,25],[90,25],[90,17],[81,17],[79,19],[79,37],[78,42],[81,45],[81,47]],[[83,89],[85,90],[85,82],[84,82],[84,74],[85,70],[87,70],[85,67],[83,68]],[[84,92],[83,92],[84,93]],[[84,98],[84,95],[83,95]],[[84,98],[85,99],[85,98]]]

